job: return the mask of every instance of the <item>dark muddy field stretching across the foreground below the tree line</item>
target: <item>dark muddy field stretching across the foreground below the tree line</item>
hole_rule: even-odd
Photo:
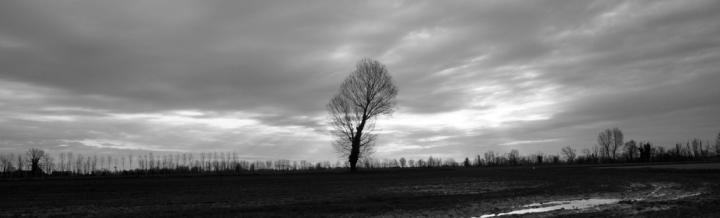
[[[595,166],[0,180],[2,217],[718,217],[720,170]],[[534,205],[533,207],[543,207]]]

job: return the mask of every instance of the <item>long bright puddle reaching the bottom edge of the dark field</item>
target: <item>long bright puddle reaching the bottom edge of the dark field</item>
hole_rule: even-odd
[[[573,201],[551,201],[546,203],[535,203],[535,204],[528,204],[524,205],[524,208],[522,210],[516,210],[516,211],[510,211],[507,213],[497,213],[497,214],[485,214],[480,216],[480,218],[484,217],[496,217],[496,216],[504,216],[504,215],[514,215],[514,214],[526,214],[526,213],[540,213],[540,212],[548,212],[553,210],[559,210],[559,209],[565,209],[565,210],[576,210],[576,209],[584,209],[589,207],[596,207],[603,204],[613,204],[619,202],[619,199],[585,199],[585,200],[573,200]]]

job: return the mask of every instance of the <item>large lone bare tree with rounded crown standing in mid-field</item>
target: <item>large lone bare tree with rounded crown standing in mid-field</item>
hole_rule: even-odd
[[[378,115],[392,115],[398,94],[392,76],[380,62],[362,59],[356,67],[326,106],[334,129],[333,148],[348,156],[352,172],[357,171],[359,159],[373,153],[375,120]]]

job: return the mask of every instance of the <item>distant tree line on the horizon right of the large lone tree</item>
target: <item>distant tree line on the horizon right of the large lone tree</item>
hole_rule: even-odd
[[[619,128],[606,129],[598,134],[598,144],[582,149],[578,154],[570,146],[561,149],[560,154],[542,152],[521,155],[517,149],[507,153],[487,151],[483,155],[466,157],[461,162],[453,158],[406,160],[366,158],[360,164],[363,168],[392,167],[495,167],[520,165],[554,165],[554,164],[607,164],[607,163],[639,163],[639,162],[682,162],[682,161],[720,161],[720,133],[715,144],[700,139],[690,139],[684,145],[676,143],[667,149],[655,146],[650,141],[624,141],[624,134]]]

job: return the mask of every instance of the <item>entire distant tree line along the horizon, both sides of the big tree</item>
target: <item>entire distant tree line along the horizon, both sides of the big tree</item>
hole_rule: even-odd
[[[580,154],[572,147],[564,147],[560,154],[542,152],[521,155],[517,149],[507,153],[487,151],[483,155],[454,158],[378,159],[364,157],[357,167],[381,168],[433,168],[433,167],[497,167],[521,165],[607,164],[636,162],[720,161],[720,133],[715,144],[690,139],[671,148],[655,146],[649,141],[624,141],[618,128],[606,129],[598,135],[598,144],[582,149]],[[350,163],[336,161],[308,162],[305,160],[241,160],[236,152],[203,152],[199,154],[153,153],[133,156],[83,156],[63,152],[52,157],[47,152],[31,148],[24,154],[0,154],[0,178],[47,176],[110,176],[110,175],[161,175],[161,174],[239,174],[273,171],[318,171],[349,169]]]

